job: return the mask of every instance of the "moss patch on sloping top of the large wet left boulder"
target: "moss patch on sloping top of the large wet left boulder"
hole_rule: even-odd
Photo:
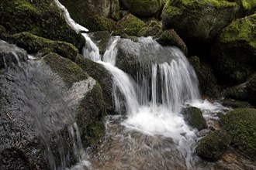
[[[72,87],[74,82],[86,80],[88,74],[81,70],[81,68],[73,63],[70,59],[65,59],[56,53],[49,53],[43,57],[43,61],[47,63],[50,68],[61,76],[67,87]]]

